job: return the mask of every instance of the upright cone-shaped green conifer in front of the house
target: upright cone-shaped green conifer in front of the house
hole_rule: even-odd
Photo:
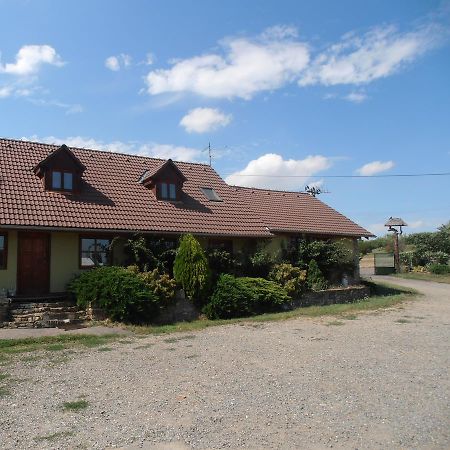
[[[205,252],[192,234],[180,239],[173,274],[189,299],[201,301],[209,286],[210,270]]]

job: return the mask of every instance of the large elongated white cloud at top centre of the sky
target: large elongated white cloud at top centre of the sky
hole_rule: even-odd
[[[255,39],[229,38],[220,53],[174,61],[171,68],[147,75],[148,92],[250,99],[278,89],[298,79],[309,61],[307,46],[292,39],[293,30],[278,26]]]

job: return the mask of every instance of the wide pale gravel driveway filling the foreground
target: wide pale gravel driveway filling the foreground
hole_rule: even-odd
[[[450,286],[395,282],[426,295],[354,320],[20,355],[0,367],[19,379],[0,398],[0,447],[449,448]]]

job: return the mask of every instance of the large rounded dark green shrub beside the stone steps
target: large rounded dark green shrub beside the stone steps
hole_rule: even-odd
[[[78,306],[102,308],[112,320],[146,323],[158,314],[158,298],[138,275],[123,267],[98,267],[72,280]]]

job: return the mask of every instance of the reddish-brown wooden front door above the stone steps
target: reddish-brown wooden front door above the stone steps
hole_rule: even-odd
[[[17,293],[48,294],[50,281],[50,238],[47,233],[19,233]]]

